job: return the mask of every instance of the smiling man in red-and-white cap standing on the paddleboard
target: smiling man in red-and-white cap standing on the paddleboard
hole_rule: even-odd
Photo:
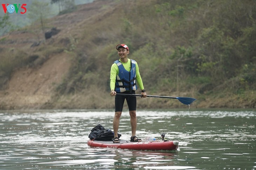
[[[129,48],[126,44],[118,44],[116,46],[117,54],[120,57],[116,60],[110,70],[110,89],[111,96],[115,96],[115,116],[113,119],[114,138],[113,143],[120,143],[117,136],[119,128],[119,120],[123,111],[124,99],[127,101],[130,114],[130,122],[132,127],[131,142],[141,142],[141,139],[136,137],[137,117],[136,117],[136,96],[123,95],[135,94],[137,85],[141,89],[141,97],[147,97],[144,90],[142,79],[139,72],[139,66],[136,61],[127,58]],[[122,95],[118,95],[118,94]]]

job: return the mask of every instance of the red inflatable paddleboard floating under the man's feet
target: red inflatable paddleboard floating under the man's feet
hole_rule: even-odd
[[[129,140],[120,140],[120,143],[113,141],[95,141],[87,142],[90,147],[130,149],[130,150],[177,150],[178,141],[152,141],[152,142],[130,142]]]

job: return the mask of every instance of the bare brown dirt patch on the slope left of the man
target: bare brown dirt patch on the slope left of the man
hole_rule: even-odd
[[[8,89],[1,92],[0,105],[4,109],[39,108],[50,101],[54,89],[70,67],[65,52],[50,57],[39,68],[22,68],[13,73]]]

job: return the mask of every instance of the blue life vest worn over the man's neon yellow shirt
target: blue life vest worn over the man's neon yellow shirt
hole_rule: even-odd
[[[119,73],[116,76],[115,91],[117,93],[122,93],[125,91],[137,90],[136,85],[136,64],[135,61],[131,59],[131,70],[127,71],[123,64],[117,60],[114,63],[117,64]]]

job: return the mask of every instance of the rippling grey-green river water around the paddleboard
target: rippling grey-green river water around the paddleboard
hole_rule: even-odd
[[[87,146],[98,124],[112,128],[114,111],[0,111],[0,169],[256,169],[256,111],[137,111],[137,136],[178,140],[177,151]],[[130,137],[128,111],[121,139]]]

